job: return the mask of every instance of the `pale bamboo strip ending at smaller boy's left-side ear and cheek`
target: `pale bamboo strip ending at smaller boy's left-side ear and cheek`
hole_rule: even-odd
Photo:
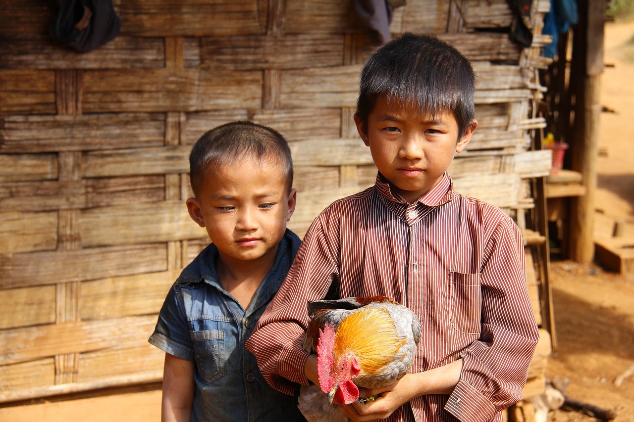
[[[79,227],[84,248],[194,239],[207,233],[191,221],[183,201],[86,209],[79,217]]]

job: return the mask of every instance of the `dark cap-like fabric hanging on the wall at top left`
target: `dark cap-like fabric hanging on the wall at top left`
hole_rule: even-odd
[[[57,0],[59,10],[49,24],[55,41],[87,53],[112,41],[121,29],[121,20],[112,0]]]

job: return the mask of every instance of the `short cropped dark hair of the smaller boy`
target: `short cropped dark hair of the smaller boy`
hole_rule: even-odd
[[[200,191],[210,166],[228,164],[243,155],[273,158],[285,164],[290,192],[293,187],[293,160],[286,139],[275,129],[240,120],[210,129],[191,147],[190,182],[194,195]]]

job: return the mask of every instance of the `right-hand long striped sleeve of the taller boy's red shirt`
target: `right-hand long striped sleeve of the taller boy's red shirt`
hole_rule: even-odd
[[[461,354],[460,381],[445,406],[460,421],[486,421],[521,399],[539,339],[526,288],[519,227],[508,217],[495,228],[479,274],[482,329]]]

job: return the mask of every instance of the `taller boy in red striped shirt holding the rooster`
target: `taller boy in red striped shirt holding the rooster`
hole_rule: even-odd
[[[477,121],[475,77],[456,49],[425,35],[385,44],[361,74],[354,121],[375,186],[315,219],[247,348],[280,391],[318,383],[302,351],[306,302],[385,295],[412,309],[423,336],[410,373],[341,409],[355,421],[501,421],[519,400],[538,330],[521,233],[501,210],[460,195],[446,173]]]

